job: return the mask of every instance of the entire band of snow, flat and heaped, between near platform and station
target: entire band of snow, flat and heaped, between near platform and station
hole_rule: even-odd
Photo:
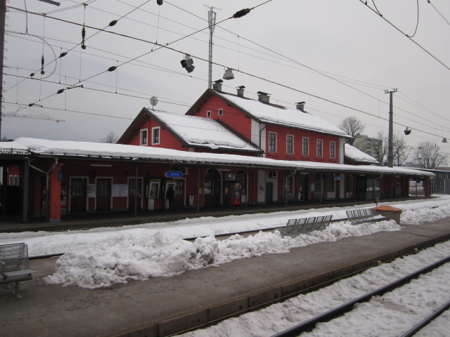
[[[426,201],[391,203],[404,212],[401,224],[421,224],[450,216],[449,196]],[[356,207],[356,206],[355,206]],[[354,207],[354,208],[355,208]],[[356,208],[360,208],[357,206]],[[345,218],[345,208],[332,207],[303,211],[246,214],[221,218],[203,217],[170,223],[147,223],[123,227],[102,227],[68,232],[1,233],[0,244],[25,242],[30,256],[65,253],[58,259],[56,272],[47,281],[99,288],[129,280],[171,276],[186,270],[220,265],[238,258],[266,253],[286,253],[296,247],[335,242],[345,237],[401,230],[394,221],[351,225],[331,223],[322,232],[282,237],[278,231],[234,235],[218,240],[215,235],[229,232],[281,227],[290,218],[333,215]],[[184,238],[200,237],[195,242]]]

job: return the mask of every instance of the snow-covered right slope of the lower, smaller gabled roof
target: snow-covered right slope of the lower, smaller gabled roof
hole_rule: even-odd
[[[191,147],[210,149],[262,152],[259,147],[240,138],[229,128],[215,119],[175,114],[172,112],[150,111],[165,126]]]

